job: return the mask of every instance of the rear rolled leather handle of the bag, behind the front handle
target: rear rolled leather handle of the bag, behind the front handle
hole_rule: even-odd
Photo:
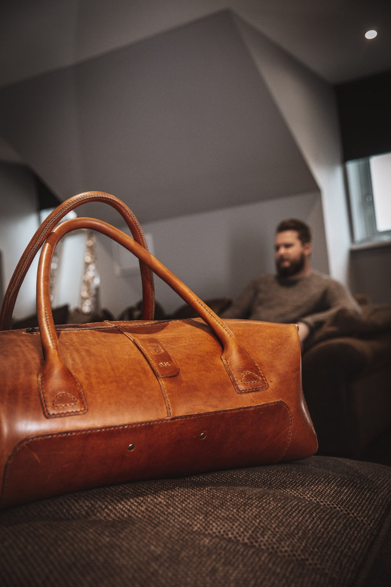
[[[140,222],[133,214],[132,210],[127,207],[119,198],[114,195],[106,194],[103,191],[86,191],[81,194],[74,195],[68,200],[65,200],[60,204],[35,232],[31,241],[27,245],[18,265],[16,265],[14,274],[9,281],[8,288],[5,292],[4,300],[2,303],[0,313],[0,330],[8,330],[11,325],[12,312],[14,312],[16,298],[18,296],[19,289],[22,285],[23,279],[31,265],[33,258],[36,253],[42,247],[43,243],[48,238],[53,227],[58,224],[62,218],[64,218],[71,210],[74,210],[82,204],[89,202],[103,202],[109,204],[115,208],[124,218],[124,221],[128,225],[133,238],[139,242],[139,244],[148,249],[147,242],[144,237],[143,229],[141,228]],[[153,319],[154,316],[154,283],[153,274],[150,268],[140,262],[141,272],[141,283],[143,286],[143,318],[145,320]]]

